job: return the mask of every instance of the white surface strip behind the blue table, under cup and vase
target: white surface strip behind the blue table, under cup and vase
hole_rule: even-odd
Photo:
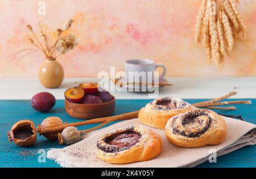
[[[167,78],[173,86],[160,89],[159,97],[216,98],[237,88],[232,98],[256,98],[256,77],[173,77]],[[64,99],[64,91],[75,82],[97,82],[96,78],[64,78],[57,89],[44,88],[38,78],[0,78],[0,99],[31,99],[39,92],[48,91],[56,99]],[[112,92],[117,99],[148,99],[146,93]]]

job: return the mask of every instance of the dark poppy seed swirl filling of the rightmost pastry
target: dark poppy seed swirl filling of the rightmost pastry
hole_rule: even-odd
[[[177,120],[179,120],[177,117],[173,120],[173,134],[187,136],[188,138],[197,138],[204,134],[212,123],[212,118],[205,111],[185,114],[181,119],[182,127],[176,124]],[[183,130],[180,130],[180,128],[183,128]]]

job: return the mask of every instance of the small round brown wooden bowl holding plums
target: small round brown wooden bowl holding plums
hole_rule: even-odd
[[[84,98],[79,102],[73,102],[68,100],[67,97],[65,98],[65,110],[67,114],[77,119],[111,116],[115,110],[115,97],[110,93],[106,95],[100,95],[100,93],[97,95],[85,94]]]

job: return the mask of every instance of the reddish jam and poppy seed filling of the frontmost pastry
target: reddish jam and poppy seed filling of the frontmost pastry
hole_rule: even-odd
[[[104,139],[108,145],[101,145],[97,143],[97,147],[104,152],[120,152],[125,149],[133,147],[138,143],[141,134],[134,130],[127,129],[126,131],[117,132]]]

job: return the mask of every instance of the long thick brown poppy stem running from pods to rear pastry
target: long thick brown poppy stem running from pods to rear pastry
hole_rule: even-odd
[[[55,132],[55,131],[62,131],[64,128],[69,127],[69,126],[84,126],[87,124],[96,124],[96,123],[102,123],[102,122],[108,122],[109,120],[125,120],[125,119],[133,119],[133,118],[138,118],[139,111],[134,111],[131,113],[125,113],[125,114],[120,114],[120,115],[115,115],[115,116],[110,116],[110,117],[105,117],[105,118],[97,118],[97,119],[90,119],[90,120],[85,120],[82,122],[76,122],[76,123],[69,123],[69,124],[63,124],[61,126],[57,127],[43,127],[41,125],[38,125],[37,132],[42,135],[46,134],[48,132]]]

